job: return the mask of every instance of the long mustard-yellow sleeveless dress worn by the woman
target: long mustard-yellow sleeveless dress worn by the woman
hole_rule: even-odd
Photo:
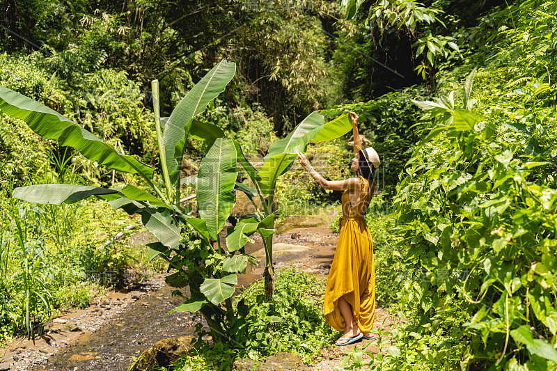
[[[361,177],[360,181],[364,190]],[[348,191],[341,198],[343,217],[339,221],[340,235],[327,277],[323,308],[325,320],[337,330],[344,330],[346,326],[338,309],[338,299],[342,296],[350,303],[360,331],[370,331],[375,320],[373,246],[368,226],[363,220],[371,195],[363,193],[363,200],[353,206]]]

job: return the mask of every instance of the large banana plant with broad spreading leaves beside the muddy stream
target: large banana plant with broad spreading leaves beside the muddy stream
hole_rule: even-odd
[[[60,145],[79,150],[84,157],[116,171],[137,174],[148,184],[141,189],[126,187],[92,187],[80,184],[36,184],[14,189],[13,197],[33,203],[74,203],[96,196],[107,200],[114,209],[141,215],[146,228],[158,242],[148,244],[150,260],[162,258],[175,273],[166,278],[168,285],[183,289],[189,286],[189,297],[180,290],[175,294],[185,299],[174,310],[196,312],[210,324],[217,341],[230,337],[235,323],[230,298],[237,284],[237,274],[245,272],[253,256],[243,253],[251,235],[258,232],[266,255],[265,290],[274,291],[272,268],[272,236],[276,211],[272,210],[276,180],[288,171],[297,152],[304,152],[310,141],[338,138],[352,129],[350,118],[340,116],[324,123],[324,116],[311,113],[284,139],[269,148],[265,163],[257,170],[244,156],[237,141],[223,138],[221,129],[195,119],[207,104],[221,93],[235,74],[235,63],[221,61],[175,107],[171,116],[160,118],[158,82],[152,82],[155,132],[161,163],[163,184],[155,184],[155,169],[133,156],[97,138],[69,118],[29,97],[0,86],[0,110],[24,120],[40,136]],[[189,139],[204,140],[207,153],[196,177],[180,179],[182,158]],[[254,187],[236,182],[238,166],[245,171]],[[180,205],[180,186],[196,186],[199,217]],[[226,248],[219,235],[233,206],[235,191],[243,191],[255,205],[259,198],[262,212],[248,216],[228,229]],[[190,231],[190,232],[188,232]],[[192,232],[191,232],[192,231]]]

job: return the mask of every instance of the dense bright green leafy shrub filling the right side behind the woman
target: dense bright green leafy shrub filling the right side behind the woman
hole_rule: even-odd
[[[432,367],[555,368],[554,111],[533,100],[512,113],[519,123],[499,107],[480,116],[469,111],[470,88],[471,79],[460,108],[452,93],[418,103],[437,126],[394,202],[410,244],[401,299],[415,316],[402,356]],[[416,341],[428,351],[407,351]]]

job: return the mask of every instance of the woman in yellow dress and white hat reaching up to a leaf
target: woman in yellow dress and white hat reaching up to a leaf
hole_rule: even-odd
[[[347,180],[325,180],[301,153],[298,158],[311,177],[324,189],[344,190],[340,235],[325,289],[324,316],[328,324],[344,331],[336,345],[348,345],[369,336],[375,319],[375,269],[373,246],[363,219],[375,189],[373,175],[379,156],[371,147],[362,150],[358,132],[358,116],[350,112],[354,132],[352,168],[357,177]]]

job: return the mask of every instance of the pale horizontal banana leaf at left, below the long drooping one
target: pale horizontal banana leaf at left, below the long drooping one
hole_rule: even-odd
[[[30,203],[75,203],[94,195],[120,194],[118,189],[91,187],[75,184],[37,184],[19,187],[13,190],[12,196]]]

